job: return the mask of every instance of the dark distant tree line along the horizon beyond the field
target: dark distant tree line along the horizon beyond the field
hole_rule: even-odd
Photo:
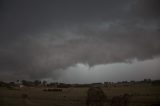
[[[17,80],[15,82],[4,82],[0,81],[0,87],[6,87],[6,86],[28,86],[28,87],[59,87],[59,88],[67,88],[67,87],[88,87],[92,85],[97,86],[110,86],[110,85],[134,85],[134,84],[150,84],[150,85],[160,85],[160,80],[151,80],[151,79],[144,79],[141,81],[121,81],[121,82],[104,82],[104,83],[91,83],[91,84],[67,84],[67,83],[58,83],[58,82],[50,82],[47,81],[40,81],[40,80],[34,80],[34,81],[28,81],[28,80]]]

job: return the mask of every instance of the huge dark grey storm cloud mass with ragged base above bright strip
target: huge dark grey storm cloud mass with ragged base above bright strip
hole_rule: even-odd
[[[118,4],[101,1],[98,5],[94,2],[90,4],[89,1],[86,5],[83,2],[80,5],[71,5],[70,2],[65,5],[52,1],[44,4],[40,1],[38,5],[34,4],[37,2],[29,1],[18,5],[19,2],[12,2],[14,5],[4,2],[4,10],[2,9],[6,18],[2,17],[1,20],[2,80],[56,79],[67,67],[78,63],[93,66],[130,62],[132,59],[145,61],[160,55],[159,14],[156,6],[148,8],[149,1],[146,1],[146,5],[133,0],[124,0]],[[56,4],[61,5],[54,7]],[[41,8],[42,6],[44,7]],[[59,9],[61,6],[66,6],[67,14]],[[88,6],[91,8],[85,12]],[[97,10],[94,6],[97,6]],[[146,6],[149,13],[143,12]],[[14,7],[15,10],[10,10],[9,7]],[[137,10],[136,7],[140,9]],[[72,10],[74,8],[77,12]],[[90,12],[91,16],[88,15]],[[56,13],[61,15],[57,16]]]

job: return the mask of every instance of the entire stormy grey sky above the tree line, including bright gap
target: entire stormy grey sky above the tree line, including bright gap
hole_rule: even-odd
[[[0,0],[0,80],[160,78],[159,0]]]

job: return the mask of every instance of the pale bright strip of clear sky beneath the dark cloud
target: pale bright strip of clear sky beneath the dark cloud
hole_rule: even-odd
[[[74,79],[75,82],[73,83],[95,83],[140,81],[148,78],[156,80],[159,79],[160,75],[158,70],[158,68],[160,68],[159,62],[160,57],[146,61],[133,60],[132,63],[112,63],[91,67],[88,64],[77,63],[64,70],[65,73],[62,74],[58,80],[49,79],[48,81],[72,83],[70,81]],[[136,70],[138,70],[139,73],[137,73]],[[152,70],[152,72],[150,70]],[[81,81],[81,79],[83,79],[83,81]]]

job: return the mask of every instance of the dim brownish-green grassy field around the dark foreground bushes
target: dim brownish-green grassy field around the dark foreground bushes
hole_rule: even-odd
[[[24,87],[20,90],[0,88],[0,106],[86,106],[88,88],[63,88],[62,92],[44,92],[44,88]],[[110,106],[113,96],[132,95],[129,106],[151,106],[160,103],[160,86],[102,87]],[[29,99],[24,99],[27,94]]]

